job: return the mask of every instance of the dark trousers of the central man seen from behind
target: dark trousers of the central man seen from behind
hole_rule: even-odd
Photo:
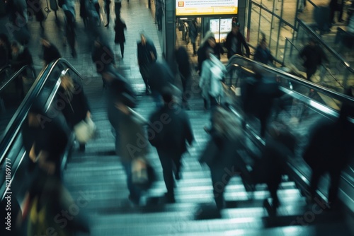
[[[174,179],[173,179],[173,167],[176,168],[176,172],[181,170],[181,156],[175,151],[166,151],[157,149],[159,159],[161,162],[162,172],[164,174],[164,182],[167,189],[167,195],[174,197]]]

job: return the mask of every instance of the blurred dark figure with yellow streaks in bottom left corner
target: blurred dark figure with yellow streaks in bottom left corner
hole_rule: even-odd
[[[76,235],[76,232],[89,234],[89,223],[84,218],[82,207],[91,200],[81,196],[78,205],[62,182],[49,174],[46,165],[42,165],[33,173],[30,187],[25,194],[25,235],[47,235],[48,232],[68,236]],[[72,206],[76,206],[77,211],[72,211]]]

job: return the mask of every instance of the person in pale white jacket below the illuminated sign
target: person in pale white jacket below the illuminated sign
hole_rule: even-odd
[[[206,51],[207,59],[202,62],[203,69],[199,81],[205,110],[219,104],[223,96],[222,79],[226,73],[224,64],[212,52],[212,48]]]

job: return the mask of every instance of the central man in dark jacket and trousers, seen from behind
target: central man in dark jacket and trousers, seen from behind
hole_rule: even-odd
[[[173,203],[173,169],[175,178],[180,179],[181,157],[187,151],[186,143],[191,145],[194,136],[188,114],[173,102],[171,90],[164,90],[162,97],[164,106],[149,117],[151,126],[148,129],[148,138],[159,154],[167,189],[166,201]],[[164,117],[164,121],[161,121],[161,117]]]

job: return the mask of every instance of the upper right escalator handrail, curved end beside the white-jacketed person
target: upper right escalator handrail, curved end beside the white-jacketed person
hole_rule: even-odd
[[[352,98],[352,97],[350,97],[348,95],[345,95],[343,93],[338,93],[338,92],[333,91],[333,90],[329,90],[328,88],[325,88],[324,86],[318,85],[316,83],[312,83],[310,81],[306,81],[306,80],[304,80],[302,78],[294,76],[294,75],[292,75],[290,73],[287,73],[285,71],[282,71],[280,69],[276,69],[276,68],[274,68],[272,66],[268,66],[268,65],[262,64],[262,63],[260,63],[258,61],[254,61],[254,60],[246,58],[246,57],[242,57],[242,56],[240,56],[238,54],[235,54],[234,56],[232,56],[229,59],[229,62],[227,64],[227,71],[231,71],[232,67],[234,67],[234,65],[235,65],[234,61],[240,60],[240,59],[243,60],[243,61],[248,61],[248,62],[251,62],[253,64],[256,64],[257,66],[259,66],[260,68],[262,68],[265,71],[268,71],[270,73],[275,73],[278,76],[282,76],[284,78],[287,78],[290,81],[299,83],[299,84],[304,85],[304,86],[306,86],[308,88],[312,88],[312,89],[316,90],[319,93],[323,93],[324,95],[327,95],[327,96],[329,96],[331,98],[334,98],[336,100],[339,100],[341,102],[348,102],[348,104],[354,106],[354,98]]]

